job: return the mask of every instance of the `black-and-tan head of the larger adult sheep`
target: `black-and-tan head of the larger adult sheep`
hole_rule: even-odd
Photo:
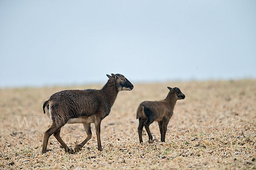
[[[134,86],[131,82],[126,79],[122,74],[111,74],[112,76],[108,75],[109,79],[116,80],[116,87],[118,91],[131,91]]]

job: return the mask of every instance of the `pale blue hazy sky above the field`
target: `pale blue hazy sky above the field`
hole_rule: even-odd
[[[256,78],[256,0],[0,0],[0,87]]]

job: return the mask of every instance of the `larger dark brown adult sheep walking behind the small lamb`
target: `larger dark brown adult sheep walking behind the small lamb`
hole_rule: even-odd
[[[43,110],[52,120],[52,125],[44,133],[42,153],[47,152],[49,137],[53,134],[68,153],[74,153],[61,139],[60,131],[66,123],[83,123],[87,138],[77,144],[75,150],[80,150],[91,139],[90,124],[94,123],[98,142],[98,150],[102,150],[100,141],[100,124],[111,111],[119,91],[131,91],[134,86],[122,74],[107,74],[108,82],[101,90],[65,90],[50,96],[44,102]]]

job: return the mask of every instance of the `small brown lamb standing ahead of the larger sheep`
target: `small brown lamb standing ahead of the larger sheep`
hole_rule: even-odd
[[[143,126],[145,126],[145,129],[148,133],[148,143],[152,143],[153,137],[149,130],[149,125],[154,121],[158,122],[161,134],[161,142],[165,142],[167,125],[173,115],[175,104],[177,100],[185,99],[185,95],[180,91],[179,88],[167,88],[170,91],[166,96],[166,99],[160,101],[144,101],[140,103],[139,107],[137,108],[136,119],[139,119],[138,133],[140,143],[143,143]]]

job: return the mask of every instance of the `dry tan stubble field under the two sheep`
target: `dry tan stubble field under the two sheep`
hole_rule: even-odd
[[[178,100],[166,142],[157,122],[150,129],[154,143],[137,135],[136,109],[144,100],[164,99],[167,86],[186,95]],[[256,169],[256,80],[134,84],[117,96],[101,125],[103,151],[93,138],[76,154],[65,153],[51,136],[41,154],[44,131],[51,122],[42,105],[64,89],[102,85],[0,90],[0,169]],[[74,147],[86,138],[83,125],[65,125],[62,139]]]

